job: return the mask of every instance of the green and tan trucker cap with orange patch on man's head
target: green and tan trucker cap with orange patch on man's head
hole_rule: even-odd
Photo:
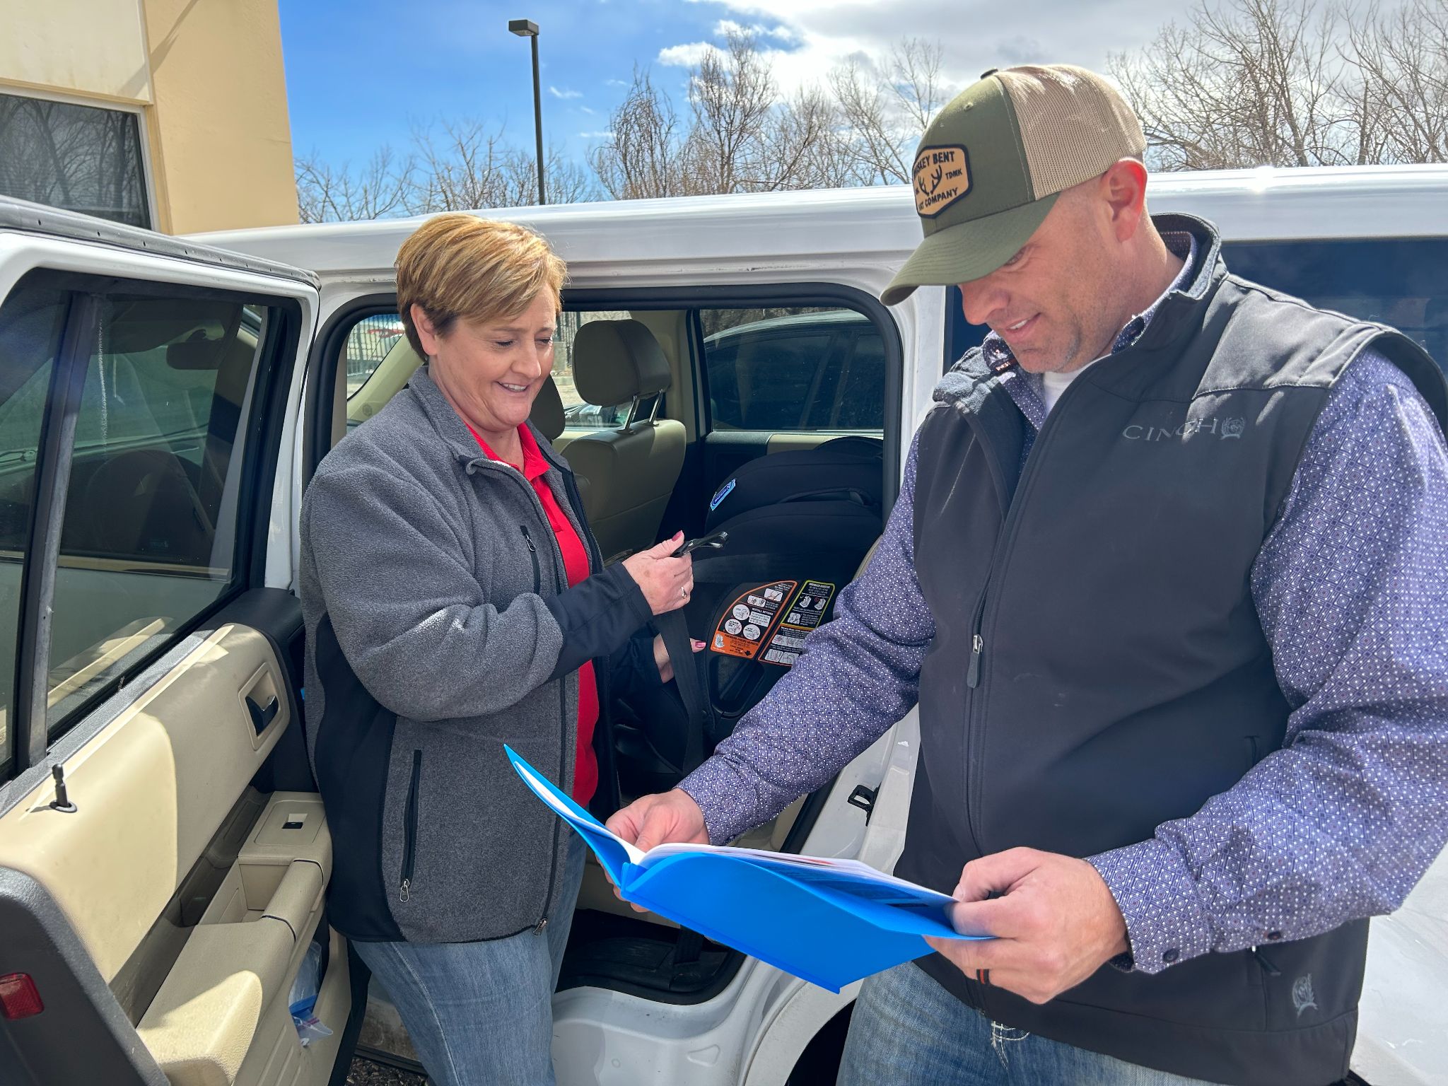
[[[912,168],[919,243],[880,298],[970,282],[1009,261],[1063,190],[1141,158],[1147,138],[1119,91],[1072,64],[989,71],[937,116]]]

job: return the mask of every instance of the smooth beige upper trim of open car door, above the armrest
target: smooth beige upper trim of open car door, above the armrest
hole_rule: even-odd
[[[41,882],[109,982],[126,963],[235,798],[291,720],[261,734],[243,689],[277,696],[282,672],[266,639],[226,624],[61,762],[74,814],[39,785],[0,817],[0,864]]]

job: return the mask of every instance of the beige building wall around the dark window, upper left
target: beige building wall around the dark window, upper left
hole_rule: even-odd
[[[297,222],[277,0],[0,0],[0,90],[135,110],[153,226]]]

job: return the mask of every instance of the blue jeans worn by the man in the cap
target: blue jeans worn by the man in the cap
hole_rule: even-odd
[[[922,969],[869,977],[837,1086],[1203,1086],[992,1022]]]

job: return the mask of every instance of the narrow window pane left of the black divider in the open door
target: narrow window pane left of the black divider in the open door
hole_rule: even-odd
[[[13,762],[20,576],[51,366],[65,326],[64,291],[22,287],[0,306],[0,779]]]

